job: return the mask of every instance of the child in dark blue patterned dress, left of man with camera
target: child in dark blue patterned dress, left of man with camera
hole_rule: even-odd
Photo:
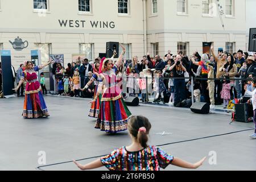
[[[164,103],[164,91],[166,91],[166,85],[164,85],[164,78],[162,76],[162,72],[161,71],[156,71],[156,77],[155,77],[155,89],[156,89],[156,96],[155,96],[155,100],[154,102],[159,103],[158,102],[158,97],[159,94],[161,95],[161,100]]]

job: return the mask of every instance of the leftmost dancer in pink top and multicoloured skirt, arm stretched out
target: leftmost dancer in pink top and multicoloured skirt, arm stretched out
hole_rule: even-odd
[[[43,116],[49,116],[46,103],[44,102],[44,97],[42,94],[42,88],[38,81],[38,76],[36,75],[36,72],[51,63],[53,62],[49,60],[48,63],[40,66],[35,66],[34,68],[31,61],[27,61],[25,63],[26,69],[22,72],[22,77],[19,81],[18,86],[13,89],[17,91],[23,84],[23,81],[26,81],[26,91],[22,113],[23,118],[39,118]]]

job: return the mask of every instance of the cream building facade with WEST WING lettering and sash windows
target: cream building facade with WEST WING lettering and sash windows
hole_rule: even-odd
[[[203,53],[210,42],[235,52],[246,48],[245,11],[245,0],[0,0],[0,49],[11,50],[15,68],[33,49],[43,63],[64,54],[65,67],[76,53],[94,60],[106,42],[123,43],[126,59]],[[17,37],[20,50],[11,44]]]

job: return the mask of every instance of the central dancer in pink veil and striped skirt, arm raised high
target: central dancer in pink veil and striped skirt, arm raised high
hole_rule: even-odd
[[[95,128],[106,131],[106,133],[117,133],[127,130],[127,119],[131,116],[125,101],[123,101],[122,90],[117,84],[117,77],[115,75],[125,54],[125,47],[122,45],[121,47],[123,49],[122,54],[118,57],[114,67],[110,59],[101,61],[100,69],[102,73],[99,76],[100,83],[98,84],[97,94],[93,101],[91,101],[95,102],[100,93],[102,93],[101,106]]]

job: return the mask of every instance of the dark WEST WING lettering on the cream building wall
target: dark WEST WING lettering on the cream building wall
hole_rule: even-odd
[[[114,22],[108,21],[85,21],[85,20],[68,20],[68,19],[59,19],[60,27],[71,27],[71,28],[84,28],[84,27],[92,27],[92,28],[114,28]]]

